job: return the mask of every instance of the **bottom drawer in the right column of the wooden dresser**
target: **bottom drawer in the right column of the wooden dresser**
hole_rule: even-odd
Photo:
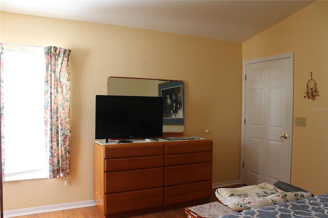
[[[212,197],[212,181],[166,187],[165,205],[188,202]]]

